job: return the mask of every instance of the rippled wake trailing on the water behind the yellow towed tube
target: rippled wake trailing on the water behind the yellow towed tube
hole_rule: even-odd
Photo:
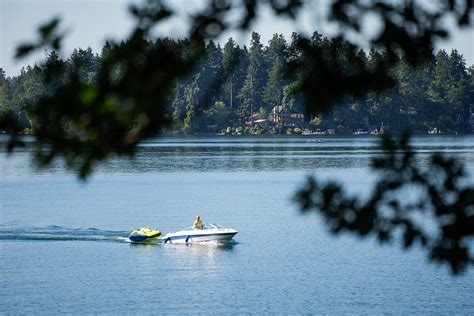
[[[16,227],[0,225],[0,241],[117,241],[127,242],[128,231],[101,230],[93,227],[70,228]]]

